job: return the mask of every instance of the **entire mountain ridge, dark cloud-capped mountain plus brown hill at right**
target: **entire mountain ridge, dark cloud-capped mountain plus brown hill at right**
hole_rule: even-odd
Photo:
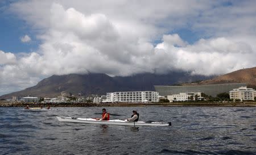
[[[192,82],[200,81],[200,82]],[[191,83],[184,83],[191,82]],[[44,78],[37,85],[2,95],[0,99],[13,96],[57,97],[61,91],[83,95],[105,95],[113,91],[154,91],[154,85],[210,85],[221,83],[246,83],[256,89],[256,67],[240,69],[218,77],[191,76],[187,72],[168,74],[141,73],[127,77],[110,77],[103,73],[53,75]]]

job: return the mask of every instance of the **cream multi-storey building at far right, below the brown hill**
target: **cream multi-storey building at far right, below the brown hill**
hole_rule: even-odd
[[[256,97],[256,91],[252,88],[239,87],[238,89],[233,89],[229,91],[230,99],[240,99],[240,100],[254,100]]]

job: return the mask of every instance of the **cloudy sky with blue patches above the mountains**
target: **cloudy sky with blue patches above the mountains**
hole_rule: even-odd
[[[56,75],[256,66],[256,1],[1,0],[0,95]]]

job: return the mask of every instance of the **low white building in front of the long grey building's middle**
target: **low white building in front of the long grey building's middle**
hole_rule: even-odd
[[[196,100],[196,96],[197,96],[198,100],[203,100],[204,99],[202,97],[202,92],[190,92],[190,93],[173,94],[173,95],[168,95],[167,99],[170,100],[170,102]]]

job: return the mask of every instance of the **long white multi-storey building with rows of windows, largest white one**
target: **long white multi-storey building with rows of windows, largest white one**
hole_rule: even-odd
[[[107,93],[105,102],[158,102],[159,93],[156,91],[121,91]]]

